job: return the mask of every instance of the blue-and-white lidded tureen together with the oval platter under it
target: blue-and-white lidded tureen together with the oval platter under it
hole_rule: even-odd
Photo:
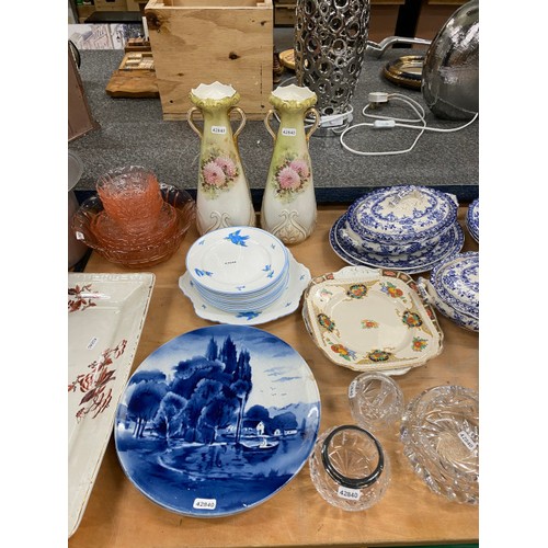
[[[463,249],[457,198],[426,186],[390,186],[356,199],[330,243],[345,262],[415,274]]]

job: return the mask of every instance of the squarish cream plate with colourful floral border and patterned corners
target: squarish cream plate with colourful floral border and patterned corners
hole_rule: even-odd
[[[401,375],[443,350],[443,332],[416,284],[399,271],[346,266],[313,278],[302,318],[333,363]]]

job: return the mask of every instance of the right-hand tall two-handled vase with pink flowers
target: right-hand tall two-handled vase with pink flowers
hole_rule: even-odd
[[[306,240],[316,227],[317,205],[308,139],[320,116],[316,93],[295,84],[278,87],[270,96],[274,106],[264,118],[274,138],[274,150],[261,207],[261,227],[286,244]],[[272,116],[279,119],[277,133]],[[310,116],[313,123],[305,127]]]

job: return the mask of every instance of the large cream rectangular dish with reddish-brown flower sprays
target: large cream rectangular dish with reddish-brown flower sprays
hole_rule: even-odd
[[[113,432],[155,275],[68,275],[68,536],[82,518]]]

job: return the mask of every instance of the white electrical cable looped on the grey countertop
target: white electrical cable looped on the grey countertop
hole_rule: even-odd
[[[479,113],[476,113],[469,122],[466,124],[459,126],[459,127],[454,127],[454,128],[441,128],[441,127],[429,127],[426,125],[426,113],[423,109],[423,106],[414,101],[411,98],[408,98],[406,95],[399,94],[399,93],[389,93],[389,94],[381,94],[379,93],[378,95],[383,95],[384,101],[379,101],[378,104],[383,103],[386,104],[390,100],[396,101],[396,102],[401,102],[404,103],[407,106],[409,106],[418,116],[416,119],[413,118],[396,118],[391,116],[381,116],[381,115],[376,115],[376,114],[369,114],[366,111],[372,106],[372,104],[375,104],[375,102],[369,102],[367,105],[364,106],[362,110],[362,114],[366,117],[374,118],[375,122],[362,122],[361,124],[354,124],[353,126],[349,126],[344,132],[341,133],[339,136],[339,140],[342,145],[342,147],[347,150],[349,152],[352,152],[353,155],[358,155],[358,156],[391,156],[391,155],[403,155],[406,152],[410,152],[413,150],[415,147],[416,142],[419,139],[422,137],[424,132],[438,132],[438,133],[453,133],[453,132],[459,132],[460,129],[464,129],[465,127],[468,127],[470,124],[476,122],[476,119],[479,116]],[[369,98],[375,96],[375,94],[369,94]],[[421,124],[421,125],[413,125],[413,124]],[[358,127],[373,127],[376,129],[383,129],[383,128],[389,128],[391,129],[392,127],[402,127],[402,128],[410,128],[410,129],[418,129],[420,133],[412,142],[412,145],[403,150],[385,150],[385,151],[379,151],[379,152],[373,152],[373,151],[365,151],[365,150],[356,150],[349,145],[344,142],[344,136],[351,132],[354,130]]]

